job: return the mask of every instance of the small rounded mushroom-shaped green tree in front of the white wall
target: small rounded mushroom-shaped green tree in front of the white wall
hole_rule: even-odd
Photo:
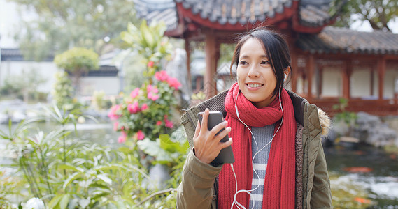
[[[73,86],[77,95],[80,93],[80,77],[89,70],[99,68],[98,54],[85,48],[69,49],[55,56],[54,62],[58,68],[62,68],[73,75]]]

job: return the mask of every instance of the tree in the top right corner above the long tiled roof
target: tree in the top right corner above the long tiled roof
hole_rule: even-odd
[[[344,0],[336,0],[339,3]],[[336,26],[349,26],[357,15],[360,20],[368,21],[375,30],[391,31],[388,22],[398,17],[398,0],[350,0],[343,6]]]

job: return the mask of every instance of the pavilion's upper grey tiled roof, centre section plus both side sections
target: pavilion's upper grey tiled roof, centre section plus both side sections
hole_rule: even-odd
[[[164,21],[168,31],[178,26],[176,3],[190,9],[193,15],[203,20],[223,24],[248,24],[262,22],[283,14],[285,8],[291,8],[299,0],[133,0],[139,18],[148,22]],[[324,26],[334,16],[329,14],[332,0],[299,1],[299,24],[309,27]]]

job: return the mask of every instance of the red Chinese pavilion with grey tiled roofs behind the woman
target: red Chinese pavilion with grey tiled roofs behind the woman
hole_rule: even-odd
[[[217,93],[220,44],[257,26],[285,34],[293,76],[288,88],[329,114],[340,98],[348,111],[398,115],[398,34],[328,26],[341,5],[332,0],[145,0],[138,15],[166,22],[166,36],[205,42],[207,97]],[[190,73],[188,73],[190,75]]]

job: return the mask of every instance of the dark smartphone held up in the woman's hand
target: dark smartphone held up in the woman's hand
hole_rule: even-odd
[[[203,114],[204,114],[203,111],[198,113],[198,118],[199,118],[200,123],[203,118]],[[213,127],[215,127],[215,125],[218,125],[222,121],[224,121],[224,118],[220,111],[210,111],[210,114],[208,115],[208,120],[207,120],[207,129],[211,130]],[[220,132],[222,132],[223,130],[224,130],[224,128],[222,130],[220,130]],[[218,132],[217,134],[219,134],[220,132]],[[227,134],[220,141],[225,142],[225,141],[228,141],[228,139],[229,139],[229,137]],[[211,162],[211,164],[217,165],[217,164],[234,163],[234,162],[235,162],[235,158],[234,158],[234,153],[232,152],[232,147],[227,146],[226,148],[223,148],[222,150],[220,150],[220,153],[218,154],[217,157],[215,157],[215,159]]]

